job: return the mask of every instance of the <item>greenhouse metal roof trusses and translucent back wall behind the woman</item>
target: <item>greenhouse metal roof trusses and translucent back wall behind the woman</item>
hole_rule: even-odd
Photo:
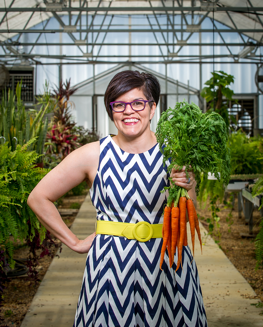
[[[23,77],[29,107],[45,80],[52,89],[71,79],[77,124],[105,136],[115,130],[103,104],[110,78],[149,71],[162,86],[155,131],[160,113],[178,100],[205,111],[200,90],[211,72],[226,71],[238,99],[230,113],[247,133],[262,133],[261,1],[7,0],[0,19],[1,64],[10,73],[2,83],[14,89]]]

